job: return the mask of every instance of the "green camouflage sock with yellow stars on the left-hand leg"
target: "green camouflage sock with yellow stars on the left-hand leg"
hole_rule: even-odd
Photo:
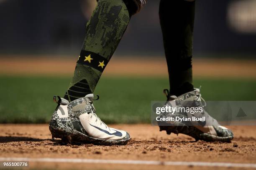
[[[99,0],[87,23],[74,77],[64,96],[72,101],[95,90],[130,21],[123,0]]]

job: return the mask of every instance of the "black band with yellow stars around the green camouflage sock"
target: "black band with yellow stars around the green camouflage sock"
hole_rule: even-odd
[[[85,57],[88,57],[89,55],[92,58],[92,60],[90,60],[90,62],[89,62],[89,60],[86,60],[86,58],[85,58]],[[99,70],[100,72],[103,72],[106,65],[108,64],[107,59],[105,59],[104,57],[102,57],[94,52],[82,50],[80,52],[79,56],[80,57],[77,60],[77,63],[83,64],[83,65],[88,65],[92,68],[95,68],[96,70]],[[100,66],[100,63],[102,63],[104,65]]]

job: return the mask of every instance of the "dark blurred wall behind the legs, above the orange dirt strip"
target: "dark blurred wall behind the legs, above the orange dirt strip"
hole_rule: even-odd
[[[77,55],[95,5],[94,0],[0,0],[0,52]],[[158,7],[159,0],[150,0],[133,16],[117,55],[164,55]],[[255,0],[197,0],[194,55],[254,58],[255,7]]]

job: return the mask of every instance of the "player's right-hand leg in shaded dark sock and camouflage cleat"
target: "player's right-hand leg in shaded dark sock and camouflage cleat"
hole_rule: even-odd
[[[167,100],[184,103],[197,103],[202,106],[199,89],[192,85],[192,48],[195,18],[195,0],[161,0],[159,7],[160,23],[163,32],[164,49],[169,71],[170,92],[166,90]],[[167,102],[166,105],[172,105]],[[175,102],[177,106],[179,102]],[[198,106],[196,106],[198,107]],[[179,121],[160,125],[160,130],[170,133],[184,133],[196,140],[228,142],[233,133],[220,126],[205,110],[198,116],[207,117],[204,126],[189,126]],[[186,114],[165,115],[185,117]],[[175,118],[174,118],[175,119]]]

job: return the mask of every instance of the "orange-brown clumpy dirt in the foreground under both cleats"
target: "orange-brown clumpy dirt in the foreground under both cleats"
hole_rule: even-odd
[[[125,146],[97,146],[92,144],[65,144],[52,140],[48,125],[0,125],[0,157],[3,158],[87,158],[100,160],[154,160],[256,163],[256,126],[231,126],[235,134],[232,143],[195,142],[186,135],[166,135],[151,125],[113,125],[127,130],[132,140]],[[99,163],[36,163],[30,168],[58,169],[169,169],[172,165],[123,165]],[[177,170],[216,169],[192,165],[175,166]],[[218,167],[230,169],[227,167]],[[238,168],[240,169],[240,168]]]

